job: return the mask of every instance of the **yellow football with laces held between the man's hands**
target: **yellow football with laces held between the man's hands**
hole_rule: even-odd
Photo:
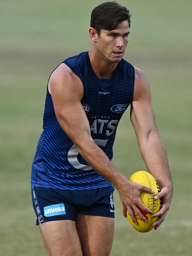
[[[149,194],[146,191],[142,191],[140,194],[141,202],[146,205],[150,210],[153,211],[153,213],[157,213],[161,209],[162,200],[161,199],[154,199],[154,196],[160,192],[160,187],[157,184],[157,181],[154,179],[154,177],[147,171],[137,171],[135,172],[130,178],[130,181],[134,181],[137,183],[141,183],[147,187],[150,187],[152,190],[154,190],[154,194]],[[142,212],[142,214],[147,219],[147,222],[141,221],[138,215],[135,214],[135,218],[137,220],[137,224],[135,224],[127,211],[127,219],[131,226],[134,227],[139,232],[149,232],[154,228],[152,224],[157,220],[158,217],[151,218],[151,214],[144,212],[141,208],[139,210]]]

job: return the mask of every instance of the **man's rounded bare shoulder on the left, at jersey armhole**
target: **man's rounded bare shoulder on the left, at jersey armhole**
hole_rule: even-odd
[[[64,63],[61,63],[51,74],[48,83],[49,93],[53,91],[64,93],[71,91],[71,93],[83,94],[83,86],[79,77]]]

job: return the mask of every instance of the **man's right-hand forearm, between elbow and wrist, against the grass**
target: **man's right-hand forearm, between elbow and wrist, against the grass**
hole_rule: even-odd
[[[165,145],[158,131],[151,131],[147,137],[138,138],[139,149],[147,169],[161,187],[171,187],[172,180]]]

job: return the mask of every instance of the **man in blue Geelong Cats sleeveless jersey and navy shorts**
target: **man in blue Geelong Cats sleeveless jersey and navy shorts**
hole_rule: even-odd
[[[162,198],[157,229],[172,198],[166,150],[155,125],[145,74],[123,60],[130,14],[117,2],[95,7],[91,14],[89,52],[66,59],[48,81],[43,133],[32,164],[32,199],[37,224],[49,255],[106,256],[114,230],[113,191],[123,215],[143,221],[141,191],[110,162],[117,124],[131,104],[131,122],[150,173]],[[111,185],[112,184],[112,185]]]

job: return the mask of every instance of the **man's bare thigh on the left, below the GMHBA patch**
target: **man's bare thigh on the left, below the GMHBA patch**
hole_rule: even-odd
[[[42,222],[39,226],[50,256],[82,256],[74,221],[49,221]]]

